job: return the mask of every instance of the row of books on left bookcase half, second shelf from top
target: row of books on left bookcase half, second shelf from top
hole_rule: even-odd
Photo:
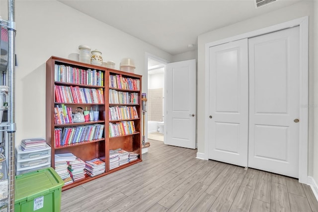
[[[79,86],[54,86],[57,103],[104,104],[104,90],[81,88]]]

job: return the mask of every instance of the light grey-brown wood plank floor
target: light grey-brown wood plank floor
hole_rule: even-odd
[[[149,140],[143,162],[62,192],[62,212],[318,212],[311,188]]]

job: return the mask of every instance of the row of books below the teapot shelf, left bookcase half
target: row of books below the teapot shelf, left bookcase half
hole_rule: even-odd
[[[101,139],[103,136],[103,130],[103,124],[72,126],[64,127],[63,129],[56,127],[54,128],[55,147]]]

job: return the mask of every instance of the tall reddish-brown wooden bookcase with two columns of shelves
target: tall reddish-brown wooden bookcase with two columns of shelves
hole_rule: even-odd
[[[56,66],[59,66],[60,70],[62,67],[68,67],[63,69],[69,70],[68,74],[57,76]],[[80,71],[79,71],[80,70]],[[89,71],[89,74],[88,74]],[[93,71],[93,72],[92,72]],[[63,72],[63,71],[61,71]],[[89,77],[85,78],[84,74]],[[92,73],[92,74],[91,74]],[[98,73],[98,74],[96,74]],[[96,74],[96,75],[95,75]],[[63,79],[62,79],[63,78]],[[114,79],[116,78],[116,85],[114,85]],[[83,183],[89,182],[91,180],[97,179],[104,175],[113,173],[115,171],[121,170],[125,167],[131,166],[142,161],[142,151],[141,151],[141,85],[142,76],[123,72],[114,69],[108,69],[101,66],[80,63],[77,61],[72,61],[69,59],[59,58],[52,56],[46,62],[46,142],[51,146],[51,166],[55,168],[55,154],[62,153],[73,153],[75,156],[83,161],[92,160],[94,158],[105,157],[105,172],[97,175],[95,177],[90,177],[85,174],[85,178],[79,181],[75,181],[68,184],[62,188],[62,191],[79,186]],[[88,82],[89,81],[89,82]],[[55,87],[63,87],[64,98],[56,98]],[[81,102],[77,99],[79,97],[72,96],[71,87],[77,87],[78,89],[84,90],[86,92],[94,92],[99,90],[96,94],[103,93],[97,99],[90,100],[88,96],[85,96],[85,100]],[[119,98],[125,98],[124,102],[113,101],[113,96],[110,96],[110,92],[115,94],[122,94]],[[87,93],[86,93],[87,94]],[[81,96],[83,97],[83,96]],[[94,96],[96,97],[96,96]],[[101,100],[101,97],[103,101]],[[93,98],[93,96],[92,96]],[[118,97],[117,97],[118,98]],[[62,100],[63,99],[63,100]],[[77,99],[77,100],[76,100]],[[62,101],[61,101],[62,100]],[[66,122],[57,123],[55,107],[57,105],[65,105],[66,107],[71,107],[74,113],[78,107],[82,108],[98,108],[99,120],[98,121],[88,121],[88,122]],[[135,117],[131,115],[122,113],[123,116],[119,115],[116,120],[109,115],[110,107],[129,107],[134,108],[137,112]],[[121,110],[123,112],[123,110]],[[121,128],[123,130],[120,134],[116,136],[109,137],[109,124],[120,124],[121,122],[126,123],[127,128]],[[127,126],[127,123],[130,123]],[[61,128],[62,130],[66,127],[80,127],[93,124],[100,124],[103,126],[103,131],[101,132],[101,137],[91,140],[81,140],[79,142],[74,142],[74,140],[69,140],[68,144],[60,145],[58,142],[61,137],[57,139],[55,133],[55,128]],[[124,126],[124,124],[121,124]],[[134,129],[133,127],[134,126]],[[61,130],[61,133],[62,133]],[[78,135],[79,136],[79,135]],[[97,136],[97,135],[96,135]],[[78,139],[79,140],[79,139]],[[126,163],[114,169],[109,169],[109,150],[114,150],[121,148],[128,152],[134,152],[139,155],[137,160]]]

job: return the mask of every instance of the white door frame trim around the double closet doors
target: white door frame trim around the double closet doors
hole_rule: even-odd
[[[308,182],[308,95],[309,95],[309,85],[308,85],[308,24],[309,17],[305,16],[302,18],[294,19],[291,21],[283,22],[266,28],[254,30],[251,32],[243,33],[240,35],[228,37],[222,40],[210,42],[205,44],[205,84],[209,85],[209,48],[212,46],[228,43],[231,41],[236,41],[244,38],[250,38],[254,36],[259,36],[266,33],[271,33],[274,31],[286,29],[293,26],[299,25],[299,51],[300,51],[300,126],[299,126],[299,182]],[[209,93],[205,93],[205,99],[209,99]],[[208,146],[209,146],[209,101],[205,103],[205,134],[204,134],[204,157],[203,159],[208,160]],[[200,157],[202,158],[202,154]]]

